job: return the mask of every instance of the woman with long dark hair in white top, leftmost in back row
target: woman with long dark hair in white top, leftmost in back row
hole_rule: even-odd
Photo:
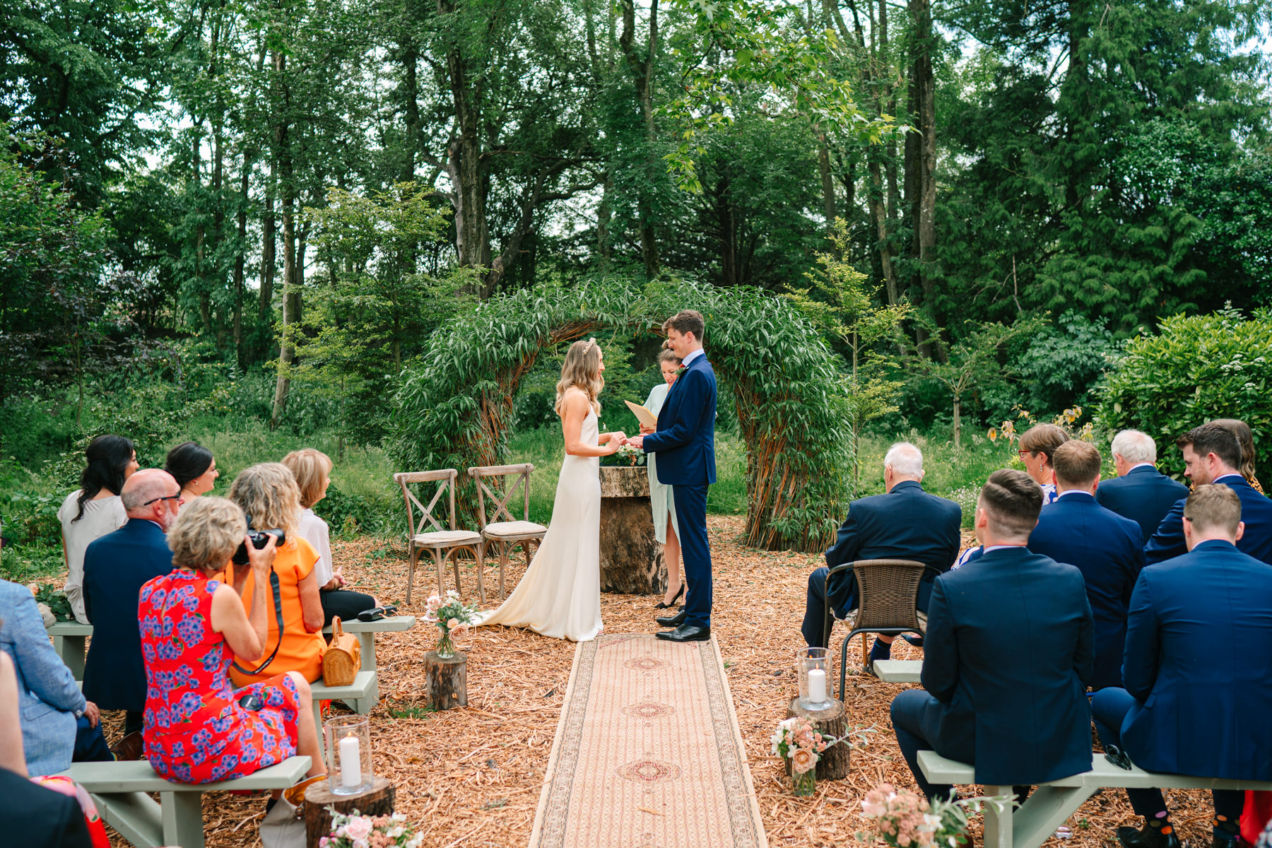
[[[120,500],[123,481],[137,470],[137,451],[123,436],[98,436],[84,451],[88,467],[80,487],[66,496],[57,510],[62,523],[62,556],[66,561],[66,600],[75,620],[88,624],[84,613],[84,551],[94,539],[114,533],[128,520]]]

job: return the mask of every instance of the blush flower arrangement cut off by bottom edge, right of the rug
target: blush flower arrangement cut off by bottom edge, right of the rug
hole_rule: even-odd
[[[881,839],[893,848],[959,848],[969,844],[968,809],[979,812],[982,804],[1011,802],[1009,797],[976,797],[929,804],[909,790],[880,783],[861,802],[861,814],[874,820],[874,830],[859,833],[857,839]]]

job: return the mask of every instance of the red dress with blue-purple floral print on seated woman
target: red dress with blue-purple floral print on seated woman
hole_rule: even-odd
[[[230,685],[233,652],[211,626],[220,585],[178,570],[149,581],[139,596],[146,759],[177,783],[244,777],[296,753],[299,698],[291,678]],[[247,694],[262,708],[244,709],[239,699]]]

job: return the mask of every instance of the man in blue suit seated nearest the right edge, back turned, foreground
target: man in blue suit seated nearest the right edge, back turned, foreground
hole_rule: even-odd
[[[1135,585],[1126,688],[1091,698],[1104,745],[1147,772],[1272,781],[1272,568],[1238,551],[1244,506],[1226,484],[1188,496],[1188,553],[1145,568]],[[1178,847],[1161,791],[1126,793],[1145,824],[1118,828],[1122,844]],[[1213,796],[1213,844],[1236,848],[1245,793]]]

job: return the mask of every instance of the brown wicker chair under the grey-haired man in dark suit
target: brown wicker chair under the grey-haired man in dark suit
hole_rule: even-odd
[[[843,701],[843,685],[847,683],[848,642],[857,633],[881,633],[899,636],[901,633],[923,634],[926,622],[920,619],[915,609],[918,600],[918,584],[923,578],[926,566],[915,559],[857,559],[831,568],[826,575],[827,585],[831,575],[852,570],[857,577],[857,609],[848,613],[843,620],[852,631],[843,639],[840,652],[840,701]],[[831,629],[834,627],[834,612],[831,608],[831,592],[826,592],[826,629],[823,639],[831,643]],[[866,639],[861,638],[861,664],[866,664]]]

